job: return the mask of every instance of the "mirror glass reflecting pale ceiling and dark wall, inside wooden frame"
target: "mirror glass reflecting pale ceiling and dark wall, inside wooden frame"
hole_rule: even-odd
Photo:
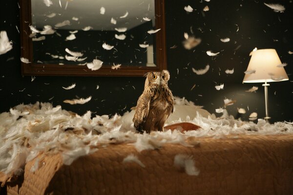
[[[36,64],[156,66],[154,0],[31,0],[31,20]]]

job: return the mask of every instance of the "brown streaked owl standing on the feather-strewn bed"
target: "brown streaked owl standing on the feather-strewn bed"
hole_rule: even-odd
[[[145,89],[137,101],[132,121],[140,133],[163,131],[167,117],[173,112],[173,96],[167,85],[170,74],[163,70],[145,76]]]

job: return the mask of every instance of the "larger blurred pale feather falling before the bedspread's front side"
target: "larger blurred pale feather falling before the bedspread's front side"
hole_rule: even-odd
[[[179,154],[174,157],[174,166],[182,167],[189,176],[198,176],[199,170],[194,166],[192,156]]]

